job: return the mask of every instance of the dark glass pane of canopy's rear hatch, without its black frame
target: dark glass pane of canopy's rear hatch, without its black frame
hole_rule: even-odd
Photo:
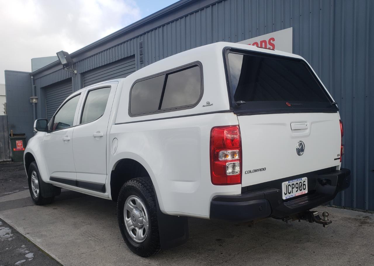
[[[299,59],[229,53],[234,101],[327,102],[324,88]]]

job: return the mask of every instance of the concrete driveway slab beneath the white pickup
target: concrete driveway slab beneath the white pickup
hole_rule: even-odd
[[[267,219],[251,228],[191,218],[187,244],[150,258],[131,253],[116,203],[63,190],[36,206],[28,190],[0,198],[0,217],[63,265],[374,265],[374,215],[332,207],[328,228]]]

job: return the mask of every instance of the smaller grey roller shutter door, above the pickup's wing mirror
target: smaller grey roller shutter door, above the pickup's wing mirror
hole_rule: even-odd
[[[53,85],[45,87],[46,95],[46,114],[47,119],[51,119],[57,108],[62,102],[73,93],[73,85],[71,79],[68,81],[62,81]]]

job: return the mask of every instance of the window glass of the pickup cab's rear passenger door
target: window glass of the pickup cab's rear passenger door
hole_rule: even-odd
[[[109,94],[110,87],[89,91],[80,122],[87,123],[101,117],[104,114],[105,107],[107,107]]]

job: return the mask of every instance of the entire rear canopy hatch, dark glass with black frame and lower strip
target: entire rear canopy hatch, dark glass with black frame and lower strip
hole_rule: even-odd
[[[224,59],[237,113],[338,111],[301,59],[240,49],[227,49]]]

